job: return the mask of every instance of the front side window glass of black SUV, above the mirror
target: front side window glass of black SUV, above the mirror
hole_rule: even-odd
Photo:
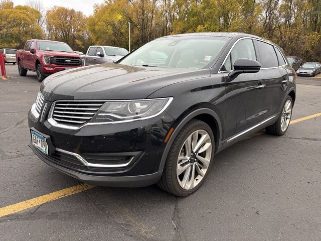
[[[240,58],[256,60],[255,49],[251,39],[243,39],[237,42],[231,51],[232,66]]]

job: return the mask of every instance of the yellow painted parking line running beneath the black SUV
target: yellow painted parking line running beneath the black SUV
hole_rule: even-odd
[[[312,114],[312,115],[305,116],[302,118],[294,119],[293,121],[290,122],[290,125],[298,123],[298,122],[306,121],[307,119],[311,119],[311,118],[314,118],[317,116],[321,116],[321,113]],[[263,133],[264,132],[260,131],[260,132],[253,134],[252,136],[250,136],[248,138],[259,136]],[[248,139],[248,138],[246,138],[246,139]],[[83,191],[86,191],[86,190],[91,189],[93,187],[95,187],[95,186],[88,185],[88,184],[84,183],[81,185],[68,187],[68,188],[65,188],[65,189],[62,189],[62,190],[59,190],[56,192],[52,192],[52,193],[49,193],[49,194],[46,194],[46,195],[43,195],[40,197],[35,197],[35,198],[29,199],[29,200],[26,200],[23,202],[19,202],[19,203],[13,204],[13,205],[2,207],[2,208],[0,208],[0,217],[6,216],[9,214],[13,214],[15,212],[19,212],[19,211],[22,211],[22,210],[25,210],[25,209],[28,209],[31,207],[39,206],[39,205],[44,204],[46,202],[51,202],[53,200],[56,200],[56,199],[59,199],[62,197],[67,197],[67,196],[70,196],[70,195],[73,195],[73,194],[76,194],[79,192],[83,192]]]

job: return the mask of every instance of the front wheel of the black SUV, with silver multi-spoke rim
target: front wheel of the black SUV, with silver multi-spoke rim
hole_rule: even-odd
[[[180,197],[195,192],[209,173],[214,146],[211,128],[205,122],[192,119],[175,138],[157,185]]]

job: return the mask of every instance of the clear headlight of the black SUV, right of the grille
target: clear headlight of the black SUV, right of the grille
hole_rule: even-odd
[[[91,123],[122,123],[151,118],[161,114],[172,100],[173,97],[107,101],[94,115]]]

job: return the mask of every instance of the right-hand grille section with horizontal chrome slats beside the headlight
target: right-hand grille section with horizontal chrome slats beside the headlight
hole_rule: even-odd
[[[104,101],[57,101],[52,118],[62,125],[81,126],[88,123],[104,103]]]

